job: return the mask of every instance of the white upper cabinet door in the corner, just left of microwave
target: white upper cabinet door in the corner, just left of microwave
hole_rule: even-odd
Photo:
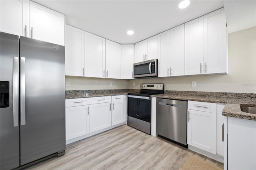
[[[134,45],[121,45],[121,79],[133,79]]]

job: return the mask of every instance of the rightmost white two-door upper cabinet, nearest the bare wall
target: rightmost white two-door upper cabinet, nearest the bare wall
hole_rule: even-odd
[[[224,8],[185,24],[185,74],[227,72],[227,29]]]

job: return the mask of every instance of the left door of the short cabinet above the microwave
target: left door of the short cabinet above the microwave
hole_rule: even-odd
[[[134,63],[145,61],[147,42],[141,41],[135,44]]]

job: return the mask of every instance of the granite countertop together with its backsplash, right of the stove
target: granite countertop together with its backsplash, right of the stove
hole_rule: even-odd
[[[242,112],[240,104],[256,107],[256,94],[254,93],[224,93],[224,92],[188,92],[188,91],[164,91],[164,94],[152,97],[174,100],[192,100],[199,102],[224,103],[226,106],[222,115],[248,120],[256,120],[256,114]]]

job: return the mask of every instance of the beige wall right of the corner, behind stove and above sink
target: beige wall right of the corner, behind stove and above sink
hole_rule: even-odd
[[[256,27],[228,34],[228,74],[129,80],[127,87],[138,89],[140,83],[164,83],[165,90],[256,93]]]

